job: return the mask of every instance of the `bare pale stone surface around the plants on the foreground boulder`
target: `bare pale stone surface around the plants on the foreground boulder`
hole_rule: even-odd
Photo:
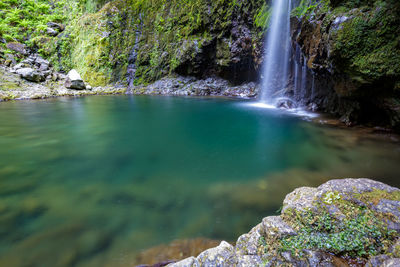
[[[387,193],[399,192],[400,190],[381,182],[373,181],[370,179],[338,179],[330,180],[317,188],[302,187],[296,189],[294,192],[288,194],[284,201],[284,209],[290,207],[299,211],[312,208],[312,203],[317,197],[323,196],[326,192],[340,192],[343,195],[360,194],[372,192],[374,190],[385,191]],[[379,205],[385,203],[381,199]],[[390,206],[396,204],[391,202]],[[400,201],[397,201],[400,206]],[[391,207],[390,207],[391,208]],[[385,212],[387,209],[379,209]],[[378,210],[378,212],[379,212]],[[189,267],[189,266],[275,266],[274,264],[291,264],[290,266],[321,266],[321,264],[328,264],[324,266],[347,266],[347,263],[342,259],[337,258],[331,254],[318,251],[307,251],[309,257],[303,261],[299,261],[291,257],[291,255],[283,255],[286,262],[278,259],[273,259],[272,262],[263,262],[260,256],[261,245],[259,239],[262,236],[267,236],[268,233],[276,235],[291,235],[295,232],[290,229],[290,226],[282,223],[282,217],[270,216],[263,219],[263,222],[254,227],[249,233],[239,237],[236,247],[222,241],[221,244],[215,248],[208,249],[201,253],[197,258],[191,257],[179,261],[177,263],[169,264],[169,267]],[[400,218],[397,218],[400,220]],[[277,227],[278,226],[278,227]],[[397,249],[396,246],[400,243],[400,239],[393,245],[393,251]],[[389,251],[390,252],[390,251]],[[399,253],[400,254],[400,253]],[[262,255],[262,252],[261,252]],[[400,255],[392,253],[392,256],[378,255],[371,257],[366,263],[366,266],[400,266]]]

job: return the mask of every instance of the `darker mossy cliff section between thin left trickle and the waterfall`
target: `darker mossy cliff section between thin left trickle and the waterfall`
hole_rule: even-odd
[[[145,4],[136,83],[171,73],[217,74],[239,82],[256,79],[262,28],[254,21],[263,2],[173,0]]]

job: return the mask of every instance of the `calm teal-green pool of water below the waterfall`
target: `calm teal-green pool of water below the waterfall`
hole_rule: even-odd
[[[298,186],[339,177],[400,186],[390,138],[248,103],[1,103],[0,266],[130,266],[175,239],[234,241]]]

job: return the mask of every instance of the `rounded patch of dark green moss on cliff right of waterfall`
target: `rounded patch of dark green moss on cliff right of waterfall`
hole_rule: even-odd
[[[351,75],[365,80],[400,77],[400,3],[376,1],[337,32],[333,55]]]

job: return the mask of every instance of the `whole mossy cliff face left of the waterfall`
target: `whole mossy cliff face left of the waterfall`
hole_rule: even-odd
[[[92,85],[147,84],[170,74],[256,80],[268,6],[263,0],[80,3],[81,16],[44,42],[59,69]],[[93,7],[94,6],[94,7]],[[100,8],[99,8],[100,7]],[[98,9],[98,11],[96,11]]]

